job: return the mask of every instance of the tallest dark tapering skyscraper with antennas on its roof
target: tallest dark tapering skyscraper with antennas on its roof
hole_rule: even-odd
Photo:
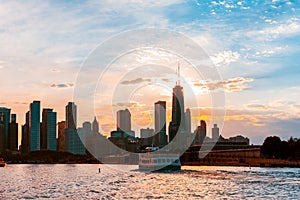
[[[172,95],[172,121],[169,125],[169,142],[177,133],[185,130],[184,95],[183,87],[180,85],[180,66],[178,65],[178,81],[173,88]]]

